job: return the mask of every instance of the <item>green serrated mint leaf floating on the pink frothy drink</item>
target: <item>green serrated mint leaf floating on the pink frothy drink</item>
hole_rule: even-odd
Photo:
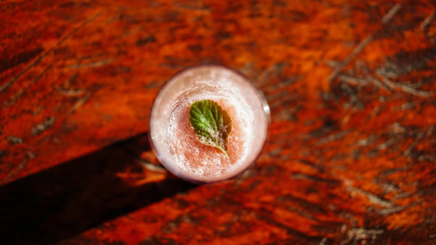
[[[189,122],[201,143],[218,148],[228,157],[232,119],[221,106],[211,100],[196,101],[191,104]]]

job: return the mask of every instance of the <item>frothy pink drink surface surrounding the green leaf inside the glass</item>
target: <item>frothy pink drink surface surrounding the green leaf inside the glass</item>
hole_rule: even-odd
[[[202,144],[189,124],[190,105],[199,100],[213,100],[232,118],[232,133],[227,151]],[[174,161],[184,170],[197,175],[219,175],[241,164],[253,140],[253,127],[246,106],[234,94],[214,93],[190,96],[173,107],[167,124],[167,142]]]

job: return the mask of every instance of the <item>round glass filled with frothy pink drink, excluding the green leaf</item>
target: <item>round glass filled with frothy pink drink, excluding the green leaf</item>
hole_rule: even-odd
[[[227,157],[201,143],[189,123],[190,105],[213,100],[232,118]],[[150,142],[160,162],[191,182],[230,179],[259,156],[267,138],[269,108],[246,77],[231,69],[204,65],[179,72],[159,91],[150,114]]]

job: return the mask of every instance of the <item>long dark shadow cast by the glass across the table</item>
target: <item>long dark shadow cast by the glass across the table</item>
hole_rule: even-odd
[[[54,243],[194,187],[176,178],[128,186],[116,175],[142,167],[132,144],[150,150],[140,135],[0,186],[1,243]]]

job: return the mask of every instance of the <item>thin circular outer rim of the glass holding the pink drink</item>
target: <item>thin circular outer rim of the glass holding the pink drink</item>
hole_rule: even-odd
[[[261,146],[261,148],[260,148],[260,150],[259,150],[259,152],[257,153],[257,156],[253,159],[253,161],[251,161],[251,163],[250,164],[248,164],[247,165],[247,167],[245,167],[244,168],[244,170],[242,170],[240,173],[237,173],[237,174],[235,174],[235,175],[233,175],[233,176],[230,176],[230,177],[228,177],[228,178],[226,178],[226,179],[223,179],[223,180],[217,180],[217,181],[210,181],[210,182],[205,182],[205,181],[200,181],[200,180],[194,180],[194,179],[190,179],[190,178],[184,178],[184,177],[181,177],[181,176],[178,176],[178,175],[175,175],[175,174],[173,174],[172,173],[172,171],[166,166],[166,163],[165,163],[165,160],[163,159],[163,157],[161,156],[162,154],[159,154],[158,153],[158,151],[156,150],[156,147],[155,147],[155,145],[154,145],[154,142],[153,142],[153,139],[152,139],[152,137],[151,137],[151,119],[152,119],[152,115],[153,115],[153,110],[155,109],[154,107],[155,107],[155,105],[156,105],[156,101],[157,101],[157,99],[159,98],[159,96],[162,96],[162,91],[172,82],[172,81],[174,81],[174,79],[175,78],[177,78],[180,74],[183,74],[184,72],[187,72],[187,71],[189,71],[189,70],[193,70],[193,69],[197,69],[197,68],[204,68],[204,67],[219,67],[219,68],[224,68],[224,69],[228,69],[228,70],[231,70],[231,71],[233,71],[233,72],[235,72],[238,76],[240,76],[240,77],[242,77],[246,82],[247,82],[247,84],[249,84],[249,86],[251,86],[251,88],[253,88],[253,90],[254,91],[256,91],[256,93],[257,93],[257,95],[258,95],[258,97],[259,97],[259,100],[260,100],[260,102],[261,102],[261,104],[262,104],[262,109],[263,109],[263,112],[264,112],[264,114],[265,114],[265,118],[266,118],[266,128],[265,128],[265,131],[266,131],[266,136],[265,136],[265,140],[264,140],[264,142],[262,143],[262,146]],[[157,94],[156,94],[156,96],[154,97],[154,100],[153,100],[153,103],[152,103],[152,105],[151,105],[151,108],[150,108],[150,112],[149,112],[149,116],[148,116],[148,130],[147,130],[147,132],[148,132],[148,141],[149,141],[149,143],[150,143],[150,148],[151,148],[151,150],[153,151],[153,153],[154,153],[154,155],[156,156],[156,158],[159,160],[159,162],[167,169],[167,171],[169,171],[171,174],[173,174],[173,175],[175,175],[177,178],[180,178],[180,179],[183,179],[183,180],[186,180],[186,181],[188,181],[188,182],[191,182],[191,183],[197,183],[197,184],[204,184],[204,183],[216,183],[216,182],[223,182],[223,181],[227,181],[227,180],[231,180],[231,179],[234,179],[234,178],[236,178],[237,176],[239,176],[239,175],[242,175],[248,168],[250,168],[251,166],[253,166],[254,165],[254,163],[256,163],[257,162],[257,160],[259,159],[259,157],[261,156],[261,154],[262,154],[262,152],[263,152],[263,150],[265,149],[265,146],[266,146],[266,143],[268,142],[268,139],[269,139],[269,127],[270,127],[270,124],[271,124],[271,113],[270,113],[270,108],[269,108],[269,105],[268,105],[268,102],[266,101],[266,98],[265,98],[265,96],[264,96],[264,94],[262,93],[262,91],[260,90],[260,88],[258,88],[257,86],[256,86],[256,84],[253,82],[253,81],[251,81],[251,79],[249,79],[247,76],[245,76],[241,71],[239,71],[239,70],[237,70],[237,69],[234,69],[234,68],[231,68],[231,67],[228,67],[228,66],[225,66],[225,65],[217,65],[217,64],[202,64],[202,65],[194,65],[194,66],[187,66],[187,67],[185,67],[185,68],[183,68],[183,69],[180,69],[179,71],[177,71],[174,75],[172,75],[169,79],[167,79],[165,82],[164,82],[164,84],[159,88],[159,90],[158,90],[158,92],[157,92]],[[232,168],[233,169],[233,168]],[[229,170],[231,170],[231,169],[229,169]],[[189,172],[188,172],[189,173]],[[191,173],[190,173],[191,174]],[[195,175],[195,174],[193,174],[193,175]],[[220,174],[217,174],[217,175],[207,175],[207,176],[205,176],[205,177],[208,177],[208,176],[219,176]]]

